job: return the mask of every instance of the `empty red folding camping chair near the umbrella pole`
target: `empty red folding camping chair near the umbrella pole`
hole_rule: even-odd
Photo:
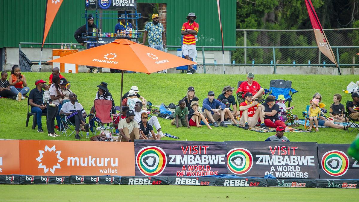
[[[111,117],[112,100],[97,99],[94,100],[93,106],[95,107],[95,115],[93,120],[97,124],[95,125],[94,134],[96,135],[96,132],[107,128],[105,124],[109,126],[111,129],[111,134],[113,134],[112,124],[115,120]],[[97,127],[100,127],[101,129],[98,130]]]

